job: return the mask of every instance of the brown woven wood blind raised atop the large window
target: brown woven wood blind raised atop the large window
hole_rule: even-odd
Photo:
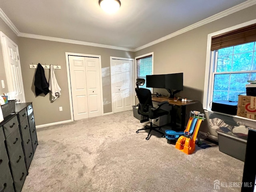
[[[211,50],[218,50],[254,41],[256,41],[256,24],[212,37]]]

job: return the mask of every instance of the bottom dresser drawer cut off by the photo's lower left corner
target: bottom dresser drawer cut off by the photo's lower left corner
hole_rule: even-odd
[[[12,175],[8,166],[8,171],[0,174],[0,191],[1,192],[14,192]]]

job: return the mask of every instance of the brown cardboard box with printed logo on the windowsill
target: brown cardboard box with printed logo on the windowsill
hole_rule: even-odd
[[[256,120],[256,97],[239,95],[236,115]]]

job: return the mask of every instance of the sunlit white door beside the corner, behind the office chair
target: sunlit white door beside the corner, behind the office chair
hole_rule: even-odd
[[[114,113],[132,110],[133,60],[111,59],[111,89]]]

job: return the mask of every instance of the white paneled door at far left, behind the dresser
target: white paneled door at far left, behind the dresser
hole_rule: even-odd
[[[4,53],[4,66],[9,89],[9,92],[7,93],[8,100],[26,102],[20,68],[18,46],[2,32],[0,35]]]

